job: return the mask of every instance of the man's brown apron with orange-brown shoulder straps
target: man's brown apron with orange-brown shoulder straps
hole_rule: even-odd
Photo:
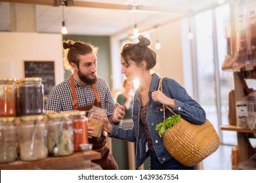
[[[91,84],[93,88],[93,93],[95,93],[95,103],[91,105],[85,105],[81,107],[77,107],[77,97],[75,93],[75,85],[74,85],[74,76],[72,75],[70,78],[70,84],[71,84],[71,89],[72,89],[72,95],[73,95],[73,103],[72,107],[74,110],[90,110],[93,108],[93,105],[97,107],[101,107],[100,103],[100,97],[98,96],[98,93],[96,91],[95,85]],[[94,163],[97,163],[102,167],[104,170],[117,170],[118,165],[113,158],[112,154],[110,154],[110,149],[108,146],[106,146],[106,136],[102,132],[100,137],[92,137],[89,138],[89,143],[93,144],[93,150],[96,152],[100,152],[101,154],[101,159],[93,160]]]

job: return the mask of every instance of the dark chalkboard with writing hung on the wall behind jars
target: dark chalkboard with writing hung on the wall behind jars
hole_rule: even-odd
[[[45,95],[55,86],[54,61],[24,61],[25,77],[40,77]]]

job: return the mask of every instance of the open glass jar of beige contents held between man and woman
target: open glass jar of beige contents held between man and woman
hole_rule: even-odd
[[[90,134],[90,136],[100,137],[104,126],[104,118],[106,117],[105,108],[93,106],[93,108],[89,110],[88,118],[91,118],[91,120],[89,120],[88,126],[95,127],[94,133],[92,135]]]

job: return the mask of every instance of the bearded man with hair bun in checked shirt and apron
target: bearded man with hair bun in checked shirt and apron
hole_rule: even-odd
[[[120,106],[117,117],[112,116],[115,103],[106,81],[96,76],[97,48],[85,42],[63,42],[64,65],[73,73],[67,80],[54,86],[48,95],[46,110],[90,110],[93,105],[106,108],[108,120],[119,125],[125,115]],[[93,134],[94,127],[88,127],[88,134]],[[102,158],[93,162],[102,169],[118,169],[117,163],[106,146],[104,133],[100,137],[89,138],[93,150],[101,153]]]

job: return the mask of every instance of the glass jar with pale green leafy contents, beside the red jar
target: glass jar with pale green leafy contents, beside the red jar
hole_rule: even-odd
[[[47,148],[50,156],[68,156],[74,153],[74,134],[69,114],[49,114]]]

